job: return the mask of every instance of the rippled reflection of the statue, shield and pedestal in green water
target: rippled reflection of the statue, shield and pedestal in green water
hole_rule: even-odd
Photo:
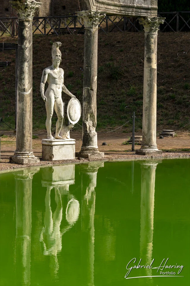
[[[44,226],[40,241],[43,254],[50,256],[51,273],[57,276],[59,263],[57,254],[62,248],[62,235],[78,220],[80,205],[72,194],[69,185],[75,184],[75,165],[55,166],[42,170],[42,186],[47,187],[45,195]],[[51,190],[55,190],[56,210],[51,209]],[[64,227],[60,229],[61,222]]]

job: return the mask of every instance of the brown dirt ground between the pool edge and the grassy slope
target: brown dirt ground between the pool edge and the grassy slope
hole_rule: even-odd
[[[39,133],[43,131],[40,130]],[[9,136],[10,131],[4,131],[3,138],[1,137],[1,160],[0,160],[0,170],[5,169],[15,169],[24,167],[18,164],[9,163],[9,157],[14,154],[16,148],[16,137]],[[76,139],[75,150],[80,151],[82,145],[82,133],[81,132],[71,132],[71,138]],[[123,145],[122,143],[129,139],[131,133],[98,133],[98,148],[99,151],[105,153],[104,160],[143,160],[146,158],[153,158],[155,156],[140,156],[136,155],[135,152],[131,151],[131,145]],[[136,133],[135,135],[142,135]],[[7,137],[5,137],[7,136]],[[85,162],[89,159],[76,158],[74,160],[65,161],[53,161],[47,162],[42,161],[42,138],[44,135],[39,135],[39,138],[33,139],[33,151],[34,155],[40,158],[40,163],[38,165],[46,164],[65,164],[70,162]],[[102,145],[106,142],[107,145]],[[161,158],[190,158],[190,134],[185,132],[177,132],[175,137],[165,137],[164,139],[159,139],[157,137],[157,145],[159,150],[163,151]],[[140,149],[140,145],[135,145],[135,149]]]

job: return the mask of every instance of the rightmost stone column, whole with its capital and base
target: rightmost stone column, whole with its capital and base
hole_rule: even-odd
[[[145,30],[144,88],[143,88],[143,140],[136,154],[162,154],[156,145],[156,75],[157,35],[165,18],[141,18]]]

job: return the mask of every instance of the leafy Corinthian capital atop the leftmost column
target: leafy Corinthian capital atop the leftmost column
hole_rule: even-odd
[[[39,9],[41,2],[33,0],[11,0],[11,7],[17,11],[18,20],[32,21],[34,13]]]

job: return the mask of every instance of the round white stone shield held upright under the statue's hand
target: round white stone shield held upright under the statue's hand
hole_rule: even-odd
[[[81,115],[81,105],[77,98],[72,97],[67,105],[67,117],[72,124],[79,121]]]

